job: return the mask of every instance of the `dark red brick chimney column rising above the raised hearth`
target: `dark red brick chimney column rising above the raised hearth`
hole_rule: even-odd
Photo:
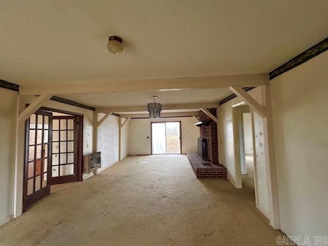
[[[216,117],[216,109],[208,109],[211,114]],[[199,127],[200,137],[206,138],[208,140],[208,154],[209,161],[215,165],[218,165],[218,142],[217,142],[217,126],[216,122],[212,120],[206,113],[202,110],[199,111],[199,121],[208,122],[207,126]]]

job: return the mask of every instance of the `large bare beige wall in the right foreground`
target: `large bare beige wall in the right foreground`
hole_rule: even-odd
[[[289,236],[327,235],[327,68],[325,52],[271,81],[280,224]]]

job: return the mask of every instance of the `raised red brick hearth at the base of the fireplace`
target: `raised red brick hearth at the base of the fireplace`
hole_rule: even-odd
[[[197,178],[227,178],[227,169],[222,165],[203,165],[196,153],[188,153],[187,156]]]

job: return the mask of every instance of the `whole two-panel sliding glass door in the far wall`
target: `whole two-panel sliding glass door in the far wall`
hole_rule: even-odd
[[[151,153],[181,154],[181,122],[151,122]]]

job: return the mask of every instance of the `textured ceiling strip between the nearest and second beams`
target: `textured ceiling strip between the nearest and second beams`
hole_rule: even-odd
[[[231,94],[229,88],[179,90],[179,91],[139,91],[129,93],[85,93],[58,95],[66,99],[78,101],[92,107],[129,107],[145,106],[153,101],[156,95],[157,103],[171,104],[195,104],[218,103],[221,99]]]

